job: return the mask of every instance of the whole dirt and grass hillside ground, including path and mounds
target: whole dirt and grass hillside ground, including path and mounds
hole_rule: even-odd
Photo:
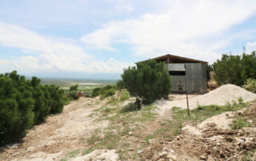
[[[184,95],[139,111],[134,111],[134,98],[126,90],[102,100],[81,98],[31,129],[22,143],[2,147],[0,159],[256,159],[256,102],[231,104],[239,96],[244,101],[256,98],[231,84],[206,95],[190,95],[191,117],[182,106]]]

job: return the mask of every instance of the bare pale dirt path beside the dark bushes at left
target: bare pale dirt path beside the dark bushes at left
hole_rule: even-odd
[[[92,100],[81,98],[66,105],[63,112],[50,116],[45,124],[35,126],[27,133],[24,142],[0,154],[2,160],[60,160],[77,149],[83,149],[97,128],[106,128],[108,121],[94,121],[89,116],[101,104],[90,105]]]

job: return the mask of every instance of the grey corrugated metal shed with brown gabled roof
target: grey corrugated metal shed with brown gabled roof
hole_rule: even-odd
[[[198,61],[170,54],[153,59],[157,62],[166,63],[166,69],[171,77],[171,92],[178,92],[179,81],[182,81],[183,91],[185,92],[207,92],[206,61]]]

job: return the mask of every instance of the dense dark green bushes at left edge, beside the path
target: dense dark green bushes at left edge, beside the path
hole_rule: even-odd
[[[41,85],[40,79],[26,80],[16,71],[0,75],[0,144],[18,141],[26,129],[62,112],[63,91]]]

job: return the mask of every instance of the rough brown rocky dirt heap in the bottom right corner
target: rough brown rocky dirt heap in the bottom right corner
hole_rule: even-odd
[[[242,116],[253,120],[256,116],[256,101],[243,111],[211,117],[192,128],[183,128],[174,139],[150,140],[150,147],[143,150],[142,159],[148,160],[241,160],[250,157],[256,160],[256,126],[231,130],[226,128],[230,119]],[[218,118],[228,120],[218,124]],[[215,124],[215,122],[217,124]],[[231,120],[232,122],[232,120]],[[192,130],[196,132],[191,132]],[[156,148],[158,147],[158,148]],[[172,158],[170,158],[172,157]]]

